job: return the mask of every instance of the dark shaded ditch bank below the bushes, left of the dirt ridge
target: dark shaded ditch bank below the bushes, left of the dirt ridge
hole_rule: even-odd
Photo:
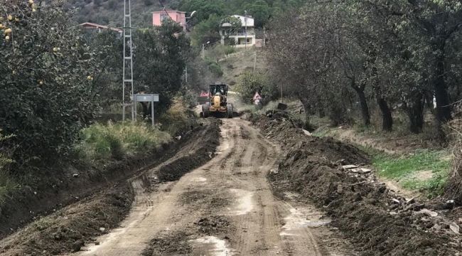
[[[215,125],[215,124],[214,124]],[[102,189],[124,181],[140,171],[150,169],[170,158],[183,148],[193,134],[204,127],[195,127],[183,133],[178,142],[163,144],[158,149],[146,151],[124,159],[112,159],[101,166],[74,163],[63,170],[41,170],[33,172],[37,179],[30,186],[21,186],[6,196],[0,203],[0,238],[13,233],[36,218],[53,213],[70,203],[80,201]],[[56,174],[61,175],[56,175]]]

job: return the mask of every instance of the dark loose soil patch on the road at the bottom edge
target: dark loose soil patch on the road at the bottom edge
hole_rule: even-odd
[[[152,239],[148,247],[141,254],[142,256],[163,256],[163,255],[191,255],[193,246],[189,240],[191,234],[183,231],[175,233],[164,233]]]

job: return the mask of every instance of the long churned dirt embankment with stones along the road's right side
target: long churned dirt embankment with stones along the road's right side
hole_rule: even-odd
[[[251,119],[285,151],[279,169],[269,174],[276,194],[296,191],[326,209],[364,255],[456,255],[461,249],[450,223],[424,209],[429,206],[399,198],[370,170],[343,169],[369,161],[354,146],[309,137],[284,112]]]

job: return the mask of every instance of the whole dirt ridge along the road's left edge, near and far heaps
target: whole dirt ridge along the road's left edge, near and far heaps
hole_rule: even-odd
[[[205,137],[205,134],[210,134],[210,137]],[[219,144],[219,138],[220,129],[216,121],[194,129],[180,142],[171,145],[161,156],[159,154],[151,156],[151,163],[154,162],[152,159],[158,159],[155,164],[149,164],[138,171],[120,170],[112,174],[112,176],[120,174],[119,183],[113,182],[106,189],[101,188],[102,191],[93,196],[39,218],[4,240],[0,240],[0,255],[58,255],[78,251],[86,243],[95,242],[97,236],[117,227],[130,211],[134,194],[127,177],[147,171],[153,165],[166,161],[178,151],[188,147],[190,154],[184,159],[175,159],[159,169],[161,182],[174,181],[187,171],[210,160],[213,156],[211,152],[214,152]],[[195,158],[193,159],[192,156]]]

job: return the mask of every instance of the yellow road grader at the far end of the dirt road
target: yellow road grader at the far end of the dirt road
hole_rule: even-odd
[[[232,117],[233,108],[227,102],[228,85],[217,83],[208,87],[208,101],[202,105],[203,117]]]

